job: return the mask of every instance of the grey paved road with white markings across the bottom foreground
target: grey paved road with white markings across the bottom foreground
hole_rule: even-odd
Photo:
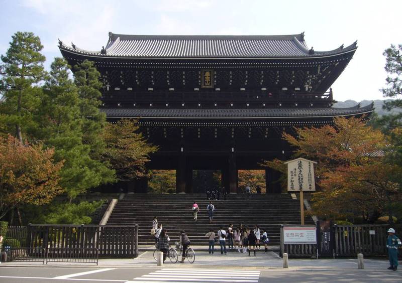
[[[400,282],[400,271],[292,270],[256,268],[80,268],[80,267],[0,267],[0,282]]]

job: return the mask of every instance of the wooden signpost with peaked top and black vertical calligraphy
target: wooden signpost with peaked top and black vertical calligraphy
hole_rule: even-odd
[[[287,164],[287,191],[300,192],[300,219],[305,225],[305,210],[303,192],[315,192],[314,164],[317,162],[297,158],[285,162]]]

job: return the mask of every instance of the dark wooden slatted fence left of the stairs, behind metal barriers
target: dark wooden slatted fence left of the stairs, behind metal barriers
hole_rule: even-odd
[[[100,257],[137,257],[138,225],[29,224],[29,247],[96,248]]]

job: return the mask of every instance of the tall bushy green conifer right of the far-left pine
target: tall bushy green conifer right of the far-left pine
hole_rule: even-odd
[[[89,88],[89,91],[93,90]],[[65,160],[60,172],[60,185],[65,189],[70,202],[90,188],[114,181],[113,170],[107,167],[107,163],[92,157],[91,145],[83,142],[84,136],[96,136],[99,129],[102,130],[103,122],[96,125],[96,122],[88,122],[83,117],[82,104],[88,105],[92,101],[97,105],[98,102],[96,99],[82,98],[80,94],[82,92],[79,92],[79,87],[69,78],[67,62],[56,58],[43,86],[41,107],[36,116],[40,125],[36,137],[44,140],[48,147],[55,148],[56,161]],[[93,126],[88,128],[86,126],[89,123]]]

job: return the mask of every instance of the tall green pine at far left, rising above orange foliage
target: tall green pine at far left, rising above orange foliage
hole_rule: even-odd
[[[40,88],[35,84],[46,76],[45,57],[40,53],[41,41],[33,33],[17,32],[12,38],[6,55],[1,56],[0,123],[23,144],[23,131],[32,126],[33,112],[40,103]]]

